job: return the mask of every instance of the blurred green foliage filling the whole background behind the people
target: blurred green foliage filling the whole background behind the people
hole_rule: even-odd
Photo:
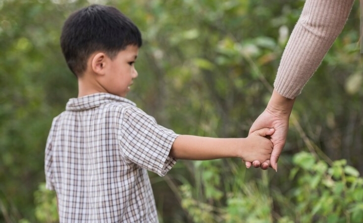
[[[51,120],[77,96],[59,36],[90,3],[117,7],[142,32],[129,99],[180,134],[244,137],[304,1],[0,0],[0,222],[57,221],[42,184],[44,147]],[[228,159],[150,173],[160,221],[360,222],[362,86],[356,1],[296,100],[279,172]]]

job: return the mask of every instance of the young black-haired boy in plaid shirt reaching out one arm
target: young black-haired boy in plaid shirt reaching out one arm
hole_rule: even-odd
[[[158,222],[147,170],[163,176],[176,159],[270,158],[265,136],[274,129],[247,138],[178,135],[125,99],[141,44],[138,28],[113,7],[89,6],[64,24],[62,52],[79,93],[53,120],[45,149],[60,222]]]

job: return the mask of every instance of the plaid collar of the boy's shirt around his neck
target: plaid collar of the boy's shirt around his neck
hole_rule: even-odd
[[[80,98],[71,98],[67,102],[66,110],[67,111],[83,111],[91,108],[96,108],[101,106],[102,104],[112,103],[112,102],[125,102],[136,106],[132,101],[122,98],[116,95],[108,94],[108,93],[96,93],[91,95],[86,95]]]

